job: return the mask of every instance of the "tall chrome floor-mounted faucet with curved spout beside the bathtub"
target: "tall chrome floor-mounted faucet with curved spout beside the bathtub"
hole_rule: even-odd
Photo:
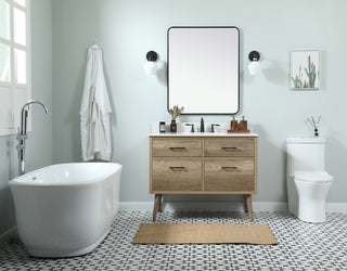
[[[22,107],[21,129],[18,128],[18,134],[17,134],[18,144],[16,146],[18,151],[18,175],[20,176],[25,173],[24,154],[25,154],[25,140],[28,138],[28,134],[26,132],[27,118],[28,118],[29,105],[35,103],[41,105],[46,114],[48,114],[48,108],[46,107],[46,105],[36,100],[28,101]]]

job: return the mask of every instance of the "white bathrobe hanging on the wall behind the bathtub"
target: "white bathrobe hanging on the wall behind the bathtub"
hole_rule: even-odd
[[[110,113],[112,112],[104,77],[102,50],[88,50],[83,96],[80,106],[82,160],[111,160]]]

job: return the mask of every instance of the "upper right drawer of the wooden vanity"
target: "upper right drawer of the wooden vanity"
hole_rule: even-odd
[[[253,138],[205,139],[205,157],[254,157]]]

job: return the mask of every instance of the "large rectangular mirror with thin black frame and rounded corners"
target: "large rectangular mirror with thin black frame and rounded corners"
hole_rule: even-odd
[[[236,27],[170,27],[167,106],[183,114],[236,114],[240,33]]]

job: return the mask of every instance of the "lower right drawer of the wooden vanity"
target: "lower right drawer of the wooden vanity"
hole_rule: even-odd
[[[254,191],[253,159],[205,159],[205,191]]]

